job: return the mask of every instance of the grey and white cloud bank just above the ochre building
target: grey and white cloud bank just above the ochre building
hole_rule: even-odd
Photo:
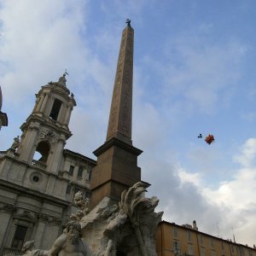
[[[254,143],[255,139],[249,138],[238,149],[236,158],[241,160],[240,168],[229,170],[232,176],[216,189],[206,183],[201,172],[190,172],[182,163],[173,164],[168,158],[143,159],[143,178],[152,183],[148,190],[159,197],[157,210],[165,212],[163,218],[177,224],[192,224],[195,219],[202,232],[224,239],[232,239],[234,234],[237,242],[252,247],[256,224],[256,167],[251,161]]]

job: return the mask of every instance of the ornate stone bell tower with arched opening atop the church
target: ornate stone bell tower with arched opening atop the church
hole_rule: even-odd
[[[36,103],[26,122],[20,126],[18,159],[29,165],[44,165],[45,170],[57,173],[63,148],[69,137],[69,119],[76,102],[66,86],[64,73],[58,82],[49,82],[36,94]],[[37,152],[41,157],[34,161]]]

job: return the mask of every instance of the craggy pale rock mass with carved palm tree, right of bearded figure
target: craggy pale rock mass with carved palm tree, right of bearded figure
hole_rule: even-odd
[[[157,256],[155,231],[163,212],[154,212],[156,197],[145,197],[148,183],[138,182],[121,195],[119,204],[105,197],[81,220],[82,239],[96,255]]]

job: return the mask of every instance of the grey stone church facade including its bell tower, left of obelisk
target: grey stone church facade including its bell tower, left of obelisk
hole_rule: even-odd
[[[96,161],[64,149],[76,106],[65,76],[42,86],[20,138],[0,152],[0,255],[20,252],[28,240],[49,248],[67,223],[75,193],[90,197]]]

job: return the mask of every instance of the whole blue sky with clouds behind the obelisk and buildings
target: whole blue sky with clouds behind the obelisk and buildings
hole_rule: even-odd
[[[256,2],[0,0],[0,85],[21,134],[35,94],[67,69],[66,148],[96,160],[105,142],[125,20],[135,30],[133,145],[147,196],[176,224],[256,244]],[[199,134],[202,138],[198,138]],[[204,138],[213,134],[215,142]]]

